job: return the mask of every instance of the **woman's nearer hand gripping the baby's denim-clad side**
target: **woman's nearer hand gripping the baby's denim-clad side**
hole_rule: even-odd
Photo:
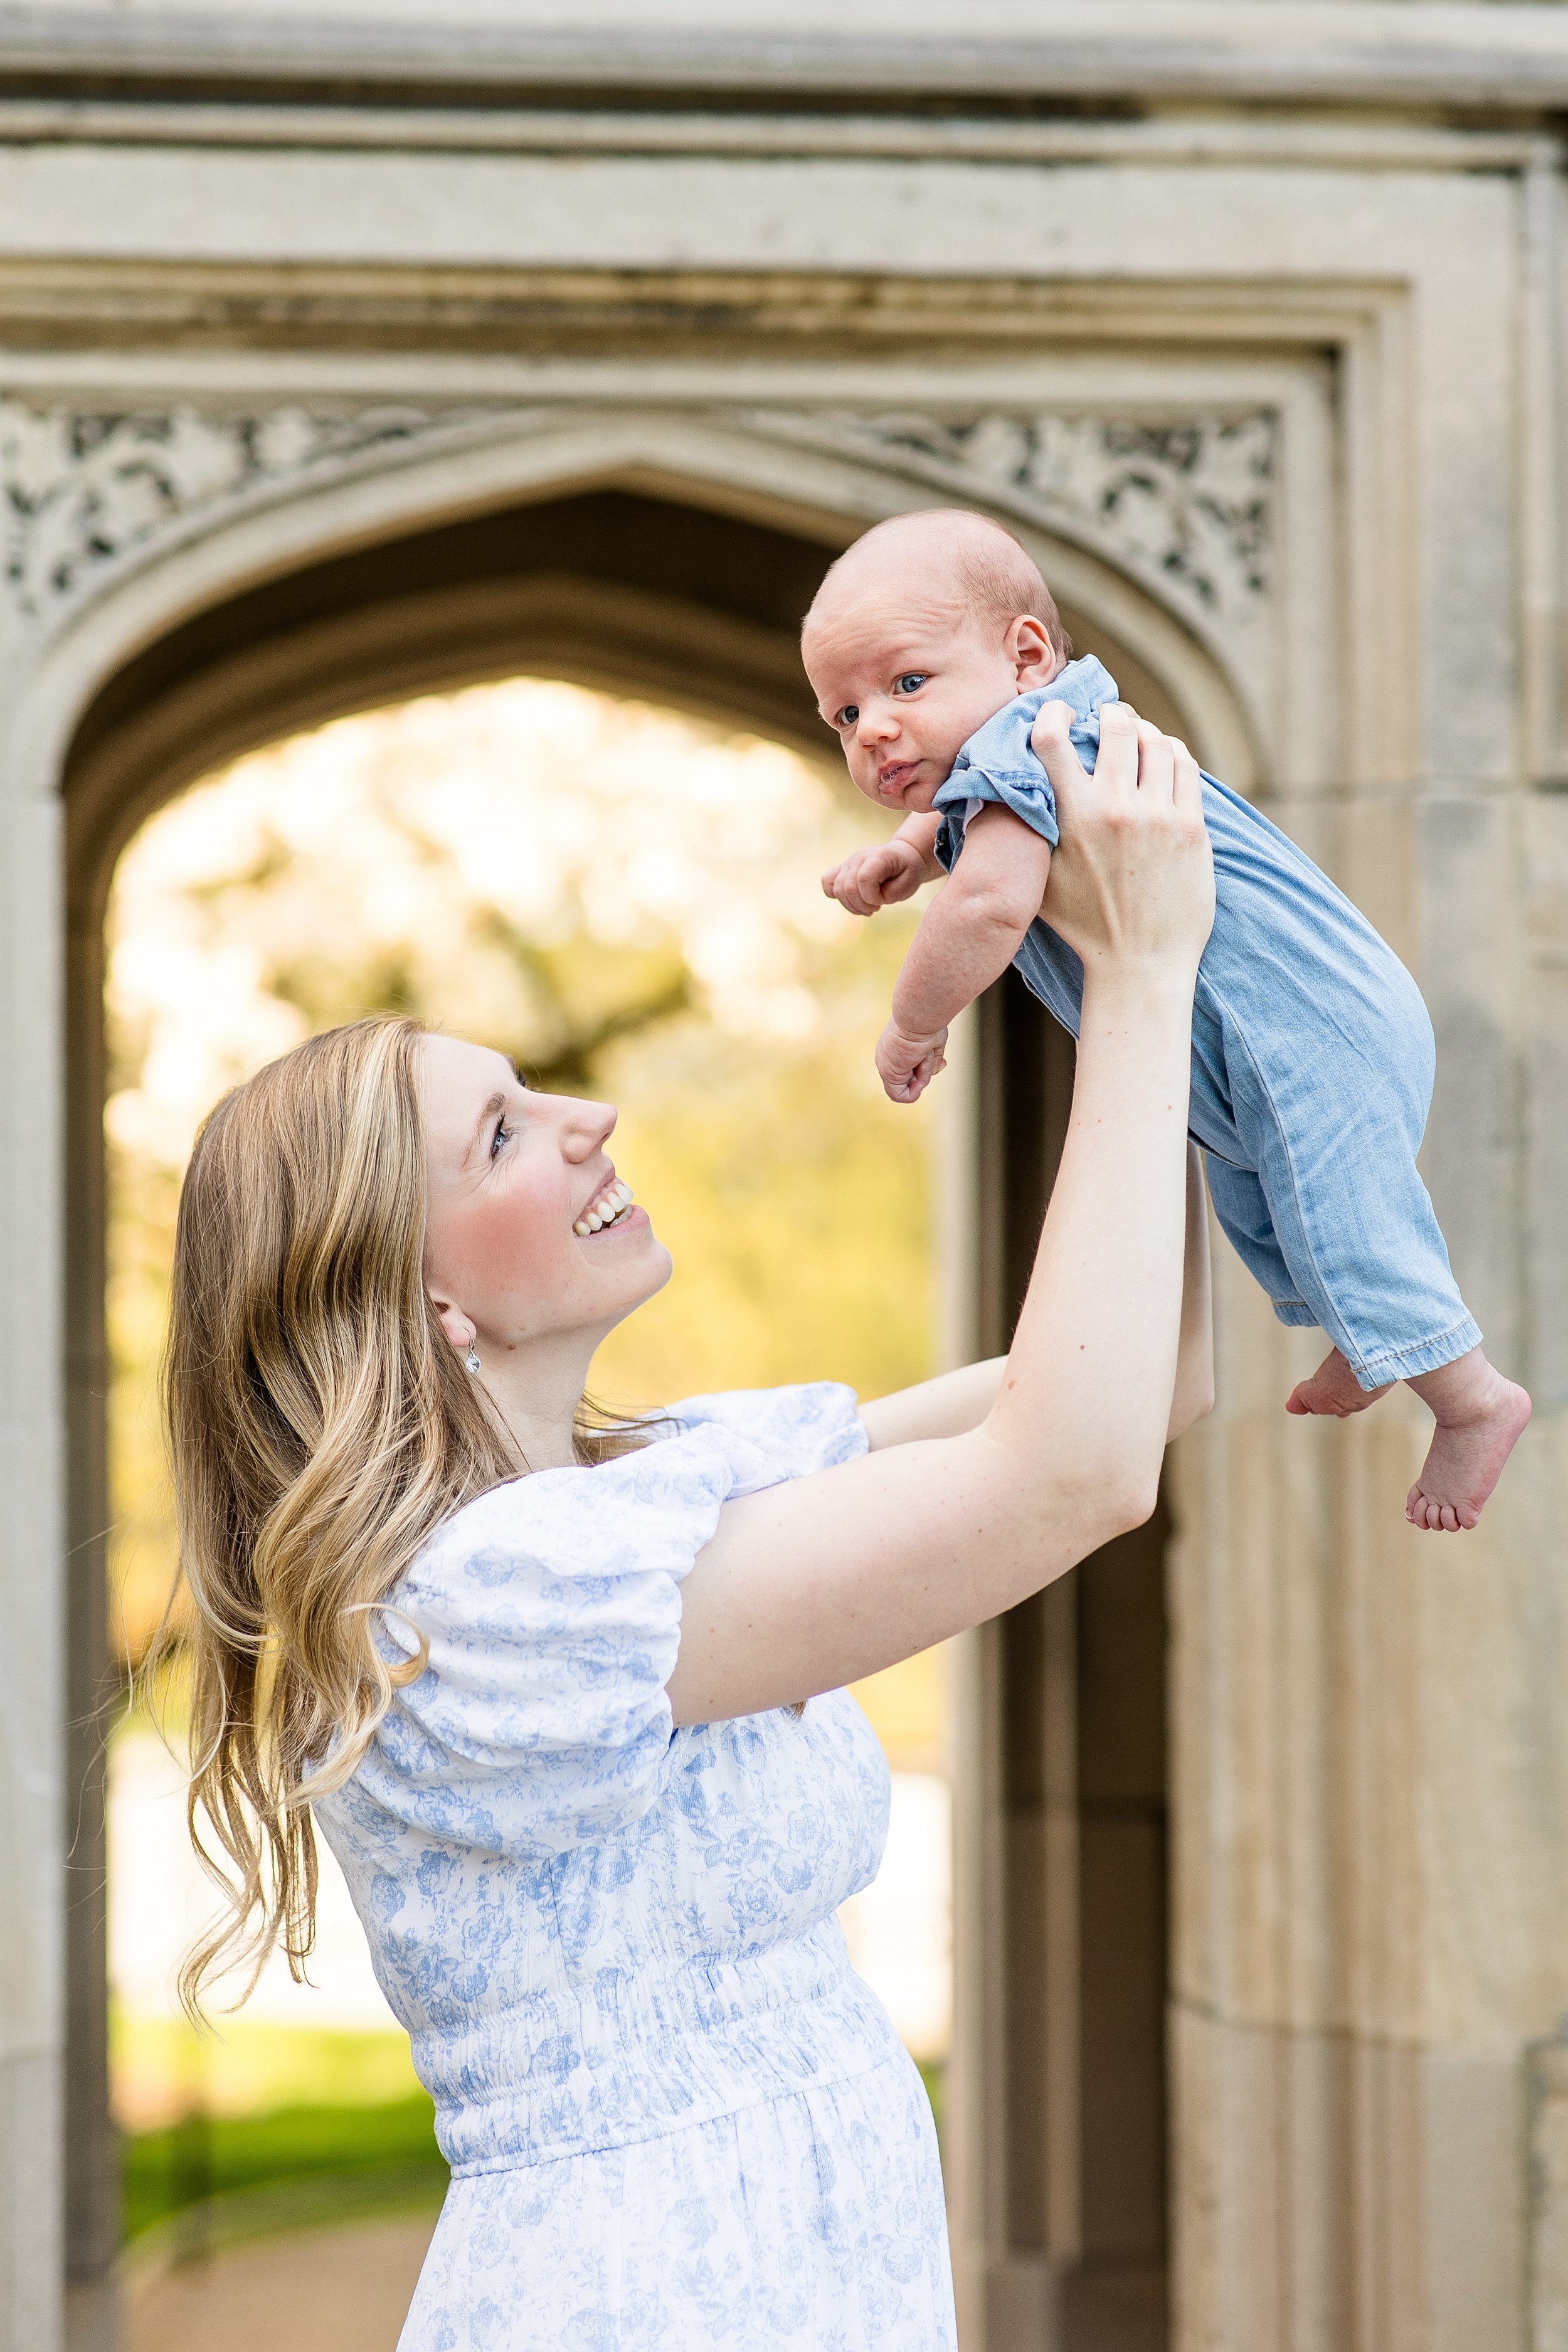
[[[1213,927],[1213,856],[1197,760],[1128,703],[1105,703],[1091,776],[1070,729],[1065,703],[1041,706],[1034,748],[1063,830],[1044,920],[1084,960],[1086,985],[1095,974],[1131,976],[1150,962],[1197,971]]]

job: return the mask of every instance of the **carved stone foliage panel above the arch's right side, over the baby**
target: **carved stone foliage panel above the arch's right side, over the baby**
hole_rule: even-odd
[[[1267,604],[1279,468],[1272,409],[1182,423],[844,412],[769,423],[891,459],[961,499],[1046,527],[1065,522],[1222,633],[1248,628]]]

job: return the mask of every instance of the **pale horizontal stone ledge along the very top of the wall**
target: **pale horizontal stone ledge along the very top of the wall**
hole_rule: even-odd
[[[642,89],[686,101],[759,94],[778,106],[823,89],[943,99],[1173,96],[1380,106],[1455,103],[1549,113],[1568,96],[1568,33],[1554,7],[1519,0],[1032,0],[976,12],[961,0],[766,0],[745,12],[691,0],[465,0],[414,19],[388,0],[322,12],[249,5],[7,7],[12,75],[94,92],[280,82],[334,96],[435,85],[451,94]],[[461,38],[454,40],[454,31]]]

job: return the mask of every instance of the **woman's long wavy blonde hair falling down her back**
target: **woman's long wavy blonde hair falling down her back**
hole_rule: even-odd
[[[360,1764],[397,1684],[374,1611],[435,1526],[527,1470],[423,1282],[423,1025],[327,1030],[202,1127],[174,1235],[165,1418],[190,1670],[190,1837],[228,1896],[181,1999],[315,1940],[308,1797]],[[578,1421],[578,1458],[639,1435]],[[165,1635],[167,1656],[174,1635]],[[219,1853],[202,1842],[202,1820]]]

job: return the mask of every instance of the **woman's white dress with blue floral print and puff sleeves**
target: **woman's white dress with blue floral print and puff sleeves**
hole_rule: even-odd
[[[931,2110],[835,1910],[889,1780],[846,1691],[672,1731],[719,1505],[849,1461],[849,1390],[698,1397],[458,1510],[430,1663],[320,1799],[451,2190],[400,2352],[952,2352]]]

